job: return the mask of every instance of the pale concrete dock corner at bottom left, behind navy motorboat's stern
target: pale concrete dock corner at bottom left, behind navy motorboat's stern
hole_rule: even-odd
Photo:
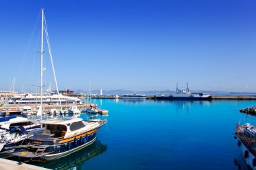
[[[0,159],[0,169],[1,170],[49,170],[43,167],[37,167],[34,165],[29,165],[26,163],[22,163],[21,165],[18,164],[16,161],[11,161],[8,159]]]

